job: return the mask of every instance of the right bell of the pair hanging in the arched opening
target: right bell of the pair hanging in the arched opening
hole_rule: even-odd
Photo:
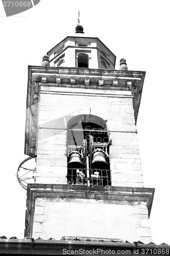
[[[97,148],[93,151],[93,160],[91,163],[91,168],[95,169],[106,169],[109,170],[109,164],[106,162],[106,153],[101,150],[101,148]]]

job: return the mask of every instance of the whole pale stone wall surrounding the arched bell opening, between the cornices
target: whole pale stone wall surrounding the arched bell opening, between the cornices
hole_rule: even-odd
[[[66,184],[64,116],[107,120],[112,185],[143,186],[131,91],[41,86],[36,183]]]

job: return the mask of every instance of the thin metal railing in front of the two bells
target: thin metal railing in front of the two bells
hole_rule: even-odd
[[[67,184],[87,186],[111,186],[110,170],[71,169],[67,170]]]

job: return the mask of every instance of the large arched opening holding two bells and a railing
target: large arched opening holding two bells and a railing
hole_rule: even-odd
[[[94,115],[72,117],[67,123],[69,184],[111,185],[106,121]]]

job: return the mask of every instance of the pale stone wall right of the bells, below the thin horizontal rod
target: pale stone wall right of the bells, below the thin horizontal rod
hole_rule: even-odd
[[[142,171],[136,133],[110,133],[112,186],[142,187]]]

